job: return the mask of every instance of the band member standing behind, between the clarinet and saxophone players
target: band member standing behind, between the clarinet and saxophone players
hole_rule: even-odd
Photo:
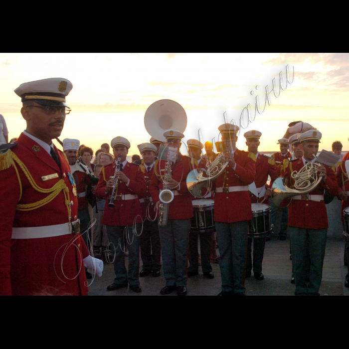
[[[143,262],[143,268],[140,272],[140,276],[147,276],[152,274],[155,277],[160,276],[161,269],[161,247],[160,247],[160,236],[158,221],[149,220],[148,218],[151,213],[154,216],[153,199],[149,192],[149,185],[154,174],[154,157],[158,151],[157,147],[151,143],[142,143],[137,146],[142,157],[143,165],[145,167],[144,177],[147,183],[147,191],[142,198],[140,203],[143,212],[143,231],[141,235],[141,257]],[[147,214],[148,213],[148,214]]]

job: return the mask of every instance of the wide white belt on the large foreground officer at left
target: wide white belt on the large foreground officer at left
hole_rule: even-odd
[[[74,226],[79,222],[80,231],[80,219],[72,222]],[[23,228],[12,228],[12,239],[39,239],[43,237],[53,237],[60,235],[70,234],[69,223],[46,225],[43,227],[23,227]]]

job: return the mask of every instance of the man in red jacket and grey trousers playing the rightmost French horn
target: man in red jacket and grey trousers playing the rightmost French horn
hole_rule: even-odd
[[[295,178],[291,177],[293,171],[299,172],[306,163],[316,161],[321,136],[318,130],[310,130],[299,136],[304,155],[302,159],[290,162],[285,169],[284,178],[288,187],[295,186]],[[319,295],[328,228],[324,189],[332,196],[337,196],[341,191],[331,168],[321,166],[316,171],[322,178],[318,186],[310,194],[293,196],[289,204],[288,226],[296,284],[295,295]],[[309,284],[306,282],[307,258],[311,261]]]

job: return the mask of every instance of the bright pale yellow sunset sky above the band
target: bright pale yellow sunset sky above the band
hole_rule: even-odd
[[[269,94],[271,105],[241,129],[237,147],[247,149],[243,134],[254,129],[262,132],[259,150],[276,152],[288,124],[302,120],[322,132],[320,150],[331,151],[339,140],[349,151],[348,53],[0,53],[0,114],[9,139],[18,137],[25,121],[13,90],[23,82],[63,77],[73,89],[61,140],[76,138],[96,151],[123,136],[131,143],[129,155],[139,154],[137,145],[151,137],[144,127],[147,108],[172,99],[187,115],[184,141],[198,139],[198,129],[201,141],[217,141],[223,113],[239,125],[249,103],[254,115],[256,96],[263,110],[265,86],[270,91],[275,78],[279,93],[279,73],[285,87],[287,64],[291,82],[294,69],[292,84],[278,98]]]

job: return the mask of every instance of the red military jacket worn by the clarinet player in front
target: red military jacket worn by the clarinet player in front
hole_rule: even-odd
[[[119,180],[118,191],[116,195],[138,195],[137,198],[131,200],[114,200],[115,207],[109,207],[111,191],[105,194],[107,181],[115,174],[116,164],[103,167],[100,172],[100,178],[96,188],[96,197],[98,199],[106,199],[102,223],[106,225],[126,226],[142,222],[142,208],[139,197],[142,197],[147,190],[147,184],[144,179],[144,166],[127,162],[123,169],[123,173],[130,179],[129,186],[127,183]]]

